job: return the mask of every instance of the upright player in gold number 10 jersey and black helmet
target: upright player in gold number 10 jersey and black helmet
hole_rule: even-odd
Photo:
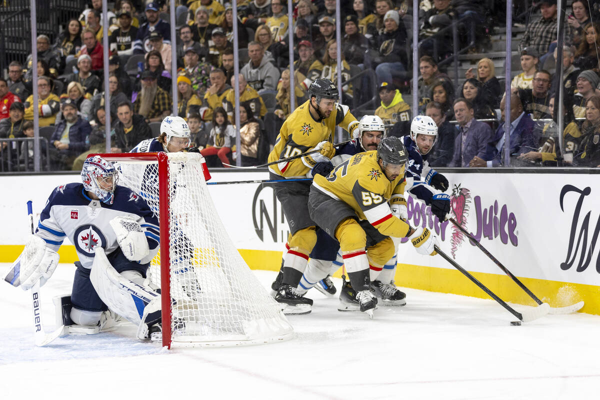
[[[358,121],[347,106],[337,104],[337,87],[329,79],[316,79],[308,90],[309,100],[299,106],[283,123],[269,163],[319,152],[269,166],[271,179],[313,178],[328,175],[333,169],[331,157],[335,150],[332,137],[336,125],[353,133]],[[307,265],[308,255],[316,243],[316,227],[308,215],[310,182],[282,182],[273,185],[290,228],[283,254],[282,276],[274,283],[278,287],[275,300],[284,303],[284,314],[308,314],[313,300],[299,296],[296,287]]]

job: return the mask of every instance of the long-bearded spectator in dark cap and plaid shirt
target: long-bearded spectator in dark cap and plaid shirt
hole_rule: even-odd
[[[142,73],[142,90],[137,95],[133,110],[149,122],[161,122],[171,113],[172,103],[169,93],[157,84],[157,74],[146,70]]]

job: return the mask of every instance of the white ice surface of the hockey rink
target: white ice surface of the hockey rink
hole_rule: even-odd
[[[0,264],[2,276],[8,264]],[[265,287],[274,272],[255,271]],[[46,330],[52,297],[70,292],[61,264],[41,288]],[[334,278],[340,287],[340,280]],[[2,399],[592,399],[600,387],[600,318],[515,318],[493,300],[406,289],[407,305],[373,320],[338,312],[316,290],[295,337],[236,348],[163,350],[133,326],[35,347],[28,293],[0,283]],[[524,306],[515,306],[523,308]]]

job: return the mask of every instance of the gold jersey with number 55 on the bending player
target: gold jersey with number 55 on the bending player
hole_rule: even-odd
[[[406,180],[398,175],[389,181],[377,163],[377,151],[353,155],[327,176],[314,177],[313,187],[332,199],[348,204],[358,218],[367,219],[386,236],[404,237],[409,225],[395,216],[388,201],[402,199]]]

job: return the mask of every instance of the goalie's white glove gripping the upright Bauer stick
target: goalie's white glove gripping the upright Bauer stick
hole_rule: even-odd
[[[19,264],[19,279],[23,290],[33,287],[38,281],[43,286],[58,266],[59,255],[46,247],[39,236],[32,235],[15,264]]]

